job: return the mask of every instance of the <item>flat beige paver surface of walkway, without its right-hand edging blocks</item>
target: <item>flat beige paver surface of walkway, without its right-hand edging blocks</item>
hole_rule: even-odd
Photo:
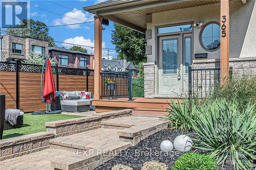
[[[102,128],[51,139],[50,149],[0,161],[0,169],[54,169],[51,167],[53,162],[61,164],[62,161],[66,166],[66,163],[72,161],[76,162],[79,159],[82,161],[82,158],[77,157],[79,150],[123,150],[130,147],[132,143],[120,140],[118,136],[120,129],[151,124],[155,126],[157,123],[162,124],[163,120],[156,117],[136,116],[104,120],[101,122]]]

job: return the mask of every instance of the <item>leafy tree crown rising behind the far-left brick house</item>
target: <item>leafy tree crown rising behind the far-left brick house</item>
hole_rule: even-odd
[[[27,27],[28,25],[30,26],[29,28]],[[7,31],[9,35],[46,40],[49,41],[49,45],[56,46],[53,37],[49,36],[49,28],[44,22],[38,20],[22,20],[19,25],[16,25],[14,28],[8,28]]]

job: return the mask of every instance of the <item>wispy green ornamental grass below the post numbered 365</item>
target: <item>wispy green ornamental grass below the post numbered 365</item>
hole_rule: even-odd
[[[220,84],[216,85],[212,99],[237,100],[240,108],[246,107],[249,101],[256,101],[256,76],[235,76],[225,87]]]

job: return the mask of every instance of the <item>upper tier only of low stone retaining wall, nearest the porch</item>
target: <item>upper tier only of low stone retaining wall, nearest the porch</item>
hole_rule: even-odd
[[[67,136],[101,128],[100,122],[102,120],[129,116],[131,114],[131,109],[124,109],[104,113],[95,113],[92,116],[48,122],[45,125],[47,132],[53,133],[54,137]]]

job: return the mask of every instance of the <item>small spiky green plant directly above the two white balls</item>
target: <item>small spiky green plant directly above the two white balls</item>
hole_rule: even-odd
[[[182,132],[185,130],[193,130],[191,119],[196,119],[194,114],[195,105],[193,105],[193,109],[189,111],[187,100],[183,100],[182,102],[178,100],[176,104],[175,100],[171,99],[169,106],[170,107],[167,108],[168,115],[165,119],[170,120],[170,128],[173,129],[173,127],[175,127],[176,130],[181,129]]]

